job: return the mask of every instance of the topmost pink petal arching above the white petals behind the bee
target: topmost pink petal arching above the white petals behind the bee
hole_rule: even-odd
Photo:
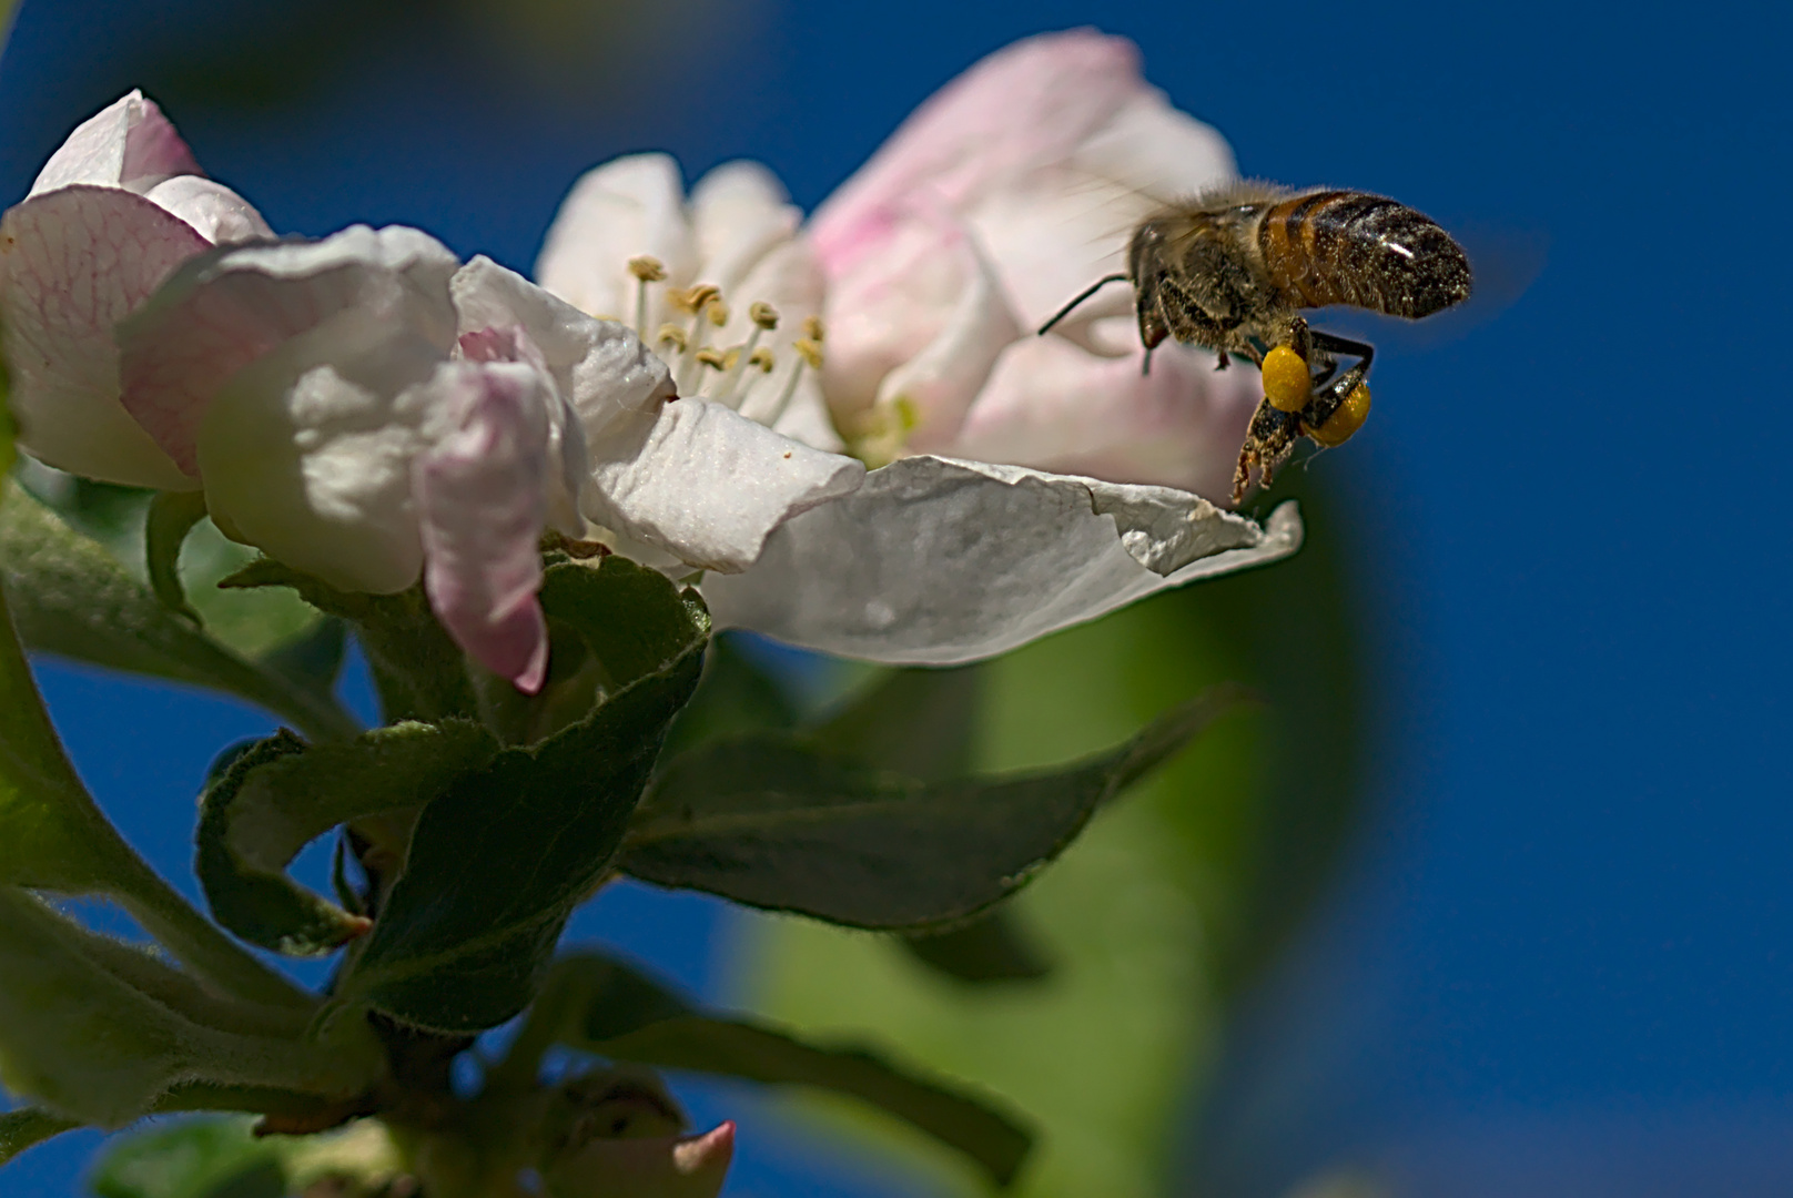
[[[936,91],[816,210],[830,276],[875,249],[880,213],[922,195],[959,206],[1076,147],[1144,90],[1139,50],[1078,29],[1017,41]]]

